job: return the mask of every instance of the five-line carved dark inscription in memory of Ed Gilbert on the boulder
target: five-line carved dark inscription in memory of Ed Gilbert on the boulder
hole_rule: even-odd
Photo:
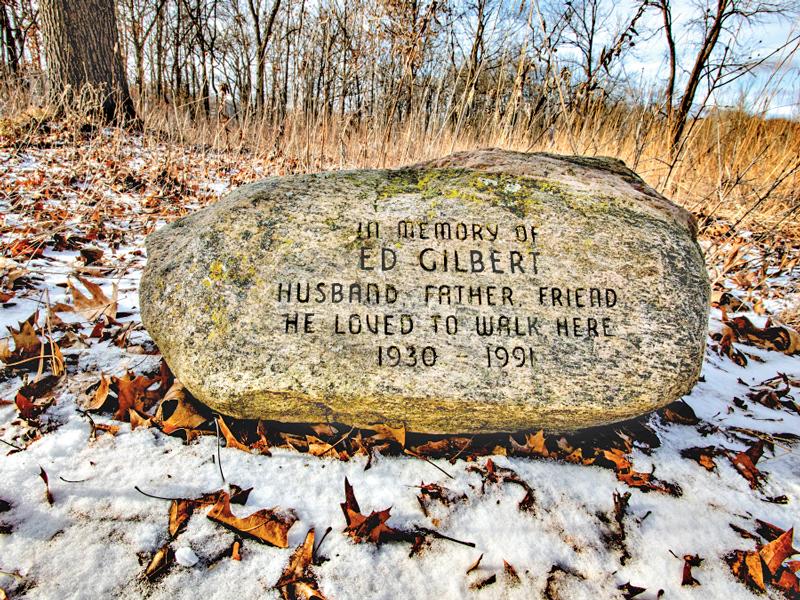
[[[543,267],[548,261],[557,267],[558,257],[539,252],[535,223],[402,219],[352,227],[355,244],[345,251],[363,277],[276,281],[282,333],[379,338],[380,345],[365,347],[375,366],[387,369],[457,359],[490,369],[533,368],[549,338],[602,343],[615,336],[618,291],[591,282],[548,284]],[[395,275],[408,270],[418,277],[402,279],[420,283],[399,288]],[[482,354],[448,354],[460,336],[483,340]]]

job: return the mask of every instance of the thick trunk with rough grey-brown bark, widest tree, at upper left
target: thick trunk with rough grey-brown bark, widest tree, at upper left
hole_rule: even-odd
[[[40,15],[51,97],[69,102],[91,85],[107,121],[135,119],[113,0],[41,0]]]

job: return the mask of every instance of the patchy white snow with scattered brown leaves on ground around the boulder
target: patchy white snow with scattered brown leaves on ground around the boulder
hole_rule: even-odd
[[[158,146],[120,145],[116,139],[86,146],[74,152],[46,146],[0,150],[5,165],[0,292],[14,294],[3,304],[0,326],[17,328],[39,310],[37,323],[46,328],[45,315],[57,315],[62,322],[51,316],[49,326],[67,364],[53,388],[53,405],[32,420],[22,418],[15,398],[23,378],[37,377],[36,368],[7,368],[0,377],[0,399],[6,401],[0,403],[5,446],[0,458],[0,598],[3,591],[11,598],[277,598],[281,590],[274,586],[293,548],[312,527],[317,543],[332,528],[316,553],[327,560],[317,559],[319,564],[311,567],[330,599],[633,597],[635,590],[626,584],[645,588],[637,598],[749,598],[755,597],[754,588],[732,573],[725,556],[769,541],[754,533],[761,527],[758,520],[781,530],[800,523],[798,447],[792,435],[783,435],[800,434],[800,415],[790,408],[800,389],[800,358],[741,338],[732,346],[724,337],[709,339],[703,380],[685,398],[697,421],[679,424],[654,415],[646,423],[660,445],[634,440],[629,448],[636,472],[655,469],[658,480],[679,486],[679,496],[629,487],[613,468],[598,466],[602,461],[585,465],[514,455],[507,438],[491,458],[470,450],[453,461],[397,451],[339,460],[335,452],[318,457],[288,445],[273,446],[271,456],[218,450],[215,435],[187,444],[155,427],[132,430],[108,411],[89,416],[83,407],[101,373],[121,377],[127,371],[153,375],[159,370],[160,357],[138,317],[144,235],[184,214],[187,206],[212,201],[261,165],[245,170],[241,158],[193,157],[189,150],[171,149],[177,158],[164,166],[164,148]],[[53,231],[62,234],[61,241]],[[72,242],[63,239],[67,234]],[[20,240],[28,246],[17,245],[14,254]],[[747,279],[751,271],[741,265],[738,271],[725,271],[723,263],[732,251],[729,240],[724,244],[706,243],[707,254],[722,248],[712,276],[718,288],[751,304],[739,307],[737,302],[738,312],[729,304],[724,314],[714,309],[710,329],[724,334],[729,319],[742,315],[763,328],[766,316],[762,309],[761,314],[750,310],[753,299],[761,298],[773,312],[787,308],[796,294],[794,266],[753,267],[752,257],[746,256],[745,267],[764,267],[764,279],[755,285]],[[39,247],[44,251],[37,252]],[[86,247],[103,250],[102,257],[87,259],[81,253]],[[13,273],[17,277],[12,280]],[[116,324],[101,327],[101,337],[89,337],[94,323],[81,314],[48,310],[75,301],[68,280],[88,295],[75,275],[100,284],[108,298],[117,287]],[[120,334],[126,324],[127,337]],[[737,350],[746,366],[734,362]],[[787,377],[776,385],[787,388],[780,398],[786,405],[769,408],[748,397],[778,374]],[[119,430],[97,430],[93,438],[92,423]],[[341,429],[333,439],[346,432]],[[756,463],[764,479],[752,487],[731,457],[759,439],[766,442]],[[554,448],[555,441],[548,436],[548,447]],[[710,471],[681,453],[707,447],[728,452],[713,457]],[[512,469],[533,489],[532,511],[520,510],[523,486],[484,481],[476,467],[485,468],[489,460],[496,469]],[[41,472],[49,480],[52,503]],[[428,528],[473,546],[429,537],[409,556],[412,546],[406,542],[356,543],[344,533],[340,503],[345,501],[345,478],[365,515],[391,507],[391,527]],[[463,497],[449,505],[431,501],[423,511],[417,499],[422,482]],[[234,506],[238,516],[269,507],[296,513],[288,548],[245,539],[241,560],[232,560],[237,535],[206,518],[208,507],[195,510],[185,530],[171,538],[169,500],[141,493],[197,498],[229,484],[253,488],[245,506]],[[626,510],[615,513],[615,493],[630,493]],[[753,539],[742,531],[753,533]],[[148,565],[165,545],[174,559],[148,578]],[[479,566],[467,573],[481,555]],[[685,555],[703,559],[691,570],[699,585],[681,585]],[[768,597],[782,593],[791,597],[767,585]]]

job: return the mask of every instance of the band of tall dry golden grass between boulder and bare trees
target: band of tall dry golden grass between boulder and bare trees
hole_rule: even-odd
[[[6,89],[0,98],[0,144],[22,149],[33,143],[51,113],[31,108],[36,103],[30,91]],[[87,126],[96,105],[97,98],[85,93],[57,126],[75,136],[97,131],[101,123]],[[269,115],[226,119],[198,116],[196,109],[162,104],[141,110],[142,143],[154,148],[166,143],[176,155],[188,151],[200,162],[230,162],[242,171],[243,181],[269,174],[396,167],[479,147],[614,156],[699,216],[725,219],[735,229],[800,234],[800,123],[790,120],[712,110],[688,128],[673,157],[667,119],[644,104],[594,103],[580,111],[562,105],[555,114],[531,114],[523,104],[513,112],[496,109],[468,117],[456,106],[440,116],[411,113],[391,125],[388,110],[360,119],[294,112],[275,123]]]

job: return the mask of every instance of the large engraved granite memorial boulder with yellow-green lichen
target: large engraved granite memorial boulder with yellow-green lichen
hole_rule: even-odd
[[[481,150],[275,177],[147,252],[147,330],[196,398],[240,418],[570,430],[680,398],[703,361],[692,217],[615,159]]]

